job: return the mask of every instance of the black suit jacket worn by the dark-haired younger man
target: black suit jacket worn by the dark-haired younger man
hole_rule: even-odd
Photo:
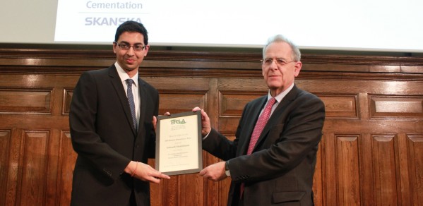
[[[150,205],[149,183],[124,173],[131,160],[147,163],[155,151],[152,120],[158,114],[159,94],[141,78],[138,87],[141,115],[136,133],[115,66],[81,75],[69,113],[78,153],[71,205],[126,205],[132,189],[138,205]]]

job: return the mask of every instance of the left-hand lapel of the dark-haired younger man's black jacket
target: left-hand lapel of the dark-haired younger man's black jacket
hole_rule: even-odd
[[[109,67],[109,77],[114,87],[114,90],[119,97],[119,101],[121,102],[122,108],[125,111],[126,119],[128,120],[128,123],[131,126],[132,132],[135,134],[135,128],[133,128],[132,123],[131,109],[129,109],[128,97],[126,97],[125,89],[121,83],[121,78],[119,78],[116,67],[114,65]]]

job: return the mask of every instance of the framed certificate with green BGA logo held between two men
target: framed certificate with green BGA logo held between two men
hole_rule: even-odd
[[[158,116],[155,169],[167,175],[201,171],[203,169],[201,143],[200,111]]]

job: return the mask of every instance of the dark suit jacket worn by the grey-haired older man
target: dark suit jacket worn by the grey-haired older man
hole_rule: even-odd
[[[325,107],[321,99],[294,86],[273,111],[247,156],[251,133],[267,95],[246,104],[234,142],[212,130],[203,149],[230,159],[232,183],[227,205],[237,205],[245,183],[244,205],[312,205],[316,152]]]

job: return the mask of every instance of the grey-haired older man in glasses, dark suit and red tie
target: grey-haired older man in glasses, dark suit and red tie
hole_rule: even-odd
[[[246,104],[233,142],[211,128],[201,110],[203,149],[226,162],[207,166],[200,175],[213,181],[232,178],[227,205],[313,205],[325,107],[294,84],[300,58],[285,37],[270,38],[262,60],[268,95]]]

